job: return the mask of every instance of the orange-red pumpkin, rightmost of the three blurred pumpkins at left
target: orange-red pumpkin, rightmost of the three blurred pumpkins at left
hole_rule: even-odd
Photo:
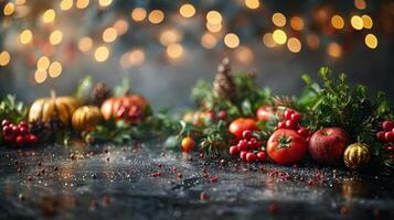
[[[109,120],[111,117],[116,120],[123,119],[128,122],[140,122],[143,119],[148,101],[139,95],[123,97],[111,97],[102,105],[104,119]]]

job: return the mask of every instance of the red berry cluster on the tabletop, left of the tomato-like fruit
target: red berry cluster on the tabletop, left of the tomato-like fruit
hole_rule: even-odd
[[[244,131],[242,138],[236,145],[230,147],[231,155],[239,155],[242,161],[249,163],[255,161],[265,162],[267,160],[267,153],[262,151],[264,143],[258,141],[251,130]]]

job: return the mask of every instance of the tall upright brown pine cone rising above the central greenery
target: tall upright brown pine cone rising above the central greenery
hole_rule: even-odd
[[[213,81],[213,95],[217,98],[234,100],[236,96],[235,84],[231,75],[230,59],[224,58],[217,67]]]

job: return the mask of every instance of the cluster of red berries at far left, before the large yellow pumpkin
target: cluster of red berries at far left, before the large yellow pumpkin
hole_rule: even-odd
[[[20,122],[18,124],[11,123],[9,120],[1,122],[2,135],[4,142],[17,146],[33,145],[38,142],[38,138],[30,133],[29,124]]]

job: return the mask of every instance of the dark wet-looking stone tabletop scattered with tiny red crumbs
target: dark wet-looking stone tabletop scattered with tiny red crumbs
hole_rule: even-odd
[[[0,219],[394,219],[392,178],[181,157],[161,144],[3,147]]]

